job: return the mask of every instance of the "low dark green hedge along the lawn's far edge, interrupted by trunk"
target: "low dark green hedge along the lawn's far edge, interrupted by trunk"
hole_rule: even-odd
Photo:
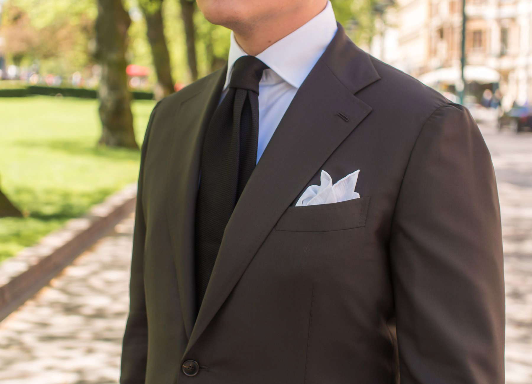
[[[95,99],[98,97],[98,91],[88,88],[45,87],[37,85],[30,85],[26,88],[0,89],[0,97],[24,97],[29,95],[61,95]],[[153,92],[131,91],[131,96],[136,100],[152,100]]]

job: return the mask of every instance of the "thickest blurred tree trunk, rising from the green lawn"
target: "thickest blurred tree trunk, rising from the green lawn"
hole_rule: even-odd
[[[97,1],[96,58],[102,68],[98,92],[102,121],[99,144],[138,149],[126,74],[127,34],[131,20],[121,0]]]

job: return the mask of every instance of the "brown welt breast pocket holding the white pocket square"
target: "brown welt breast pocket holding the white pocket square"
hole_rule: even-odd
[[[340,203],[290,206],[277,222],[278,231],[325,232],[365,226],[369,196]]]

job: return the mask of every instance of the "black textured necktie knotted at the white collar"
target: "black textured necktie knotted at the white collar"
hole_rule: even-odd
[[[201,157],[196,203],[195,274],[199,310],[220,249],[223,231],[255,168],[259,138],[259,81],[268,66],[242,56],[229,90],[214,111]]]

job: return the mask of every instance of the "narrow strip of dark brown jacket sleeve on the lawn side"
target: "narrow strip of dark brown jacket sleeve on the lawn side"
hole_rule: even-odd
[[[122,340],[122,359],[120,384],[144,383],[146,376],[146,357],[148,351],[148,329],[144,297],[144,240],[146,223],[144,221],[142,186],[144,164],[148,148],[149,132],[152,128],[157,104],[149,117],[140,154],[137,201],[135,209],[135,227],[133,231],[133,252],[131,257],[131,277],[129,281],[129,315]]]

